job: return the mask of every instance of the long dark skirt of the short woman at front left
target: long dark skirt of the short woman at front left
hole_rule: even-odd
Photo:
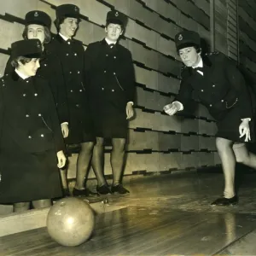
[[[29,153],[11,141],[3,145],[0,151],[0,204],[62,196],[54,150]]]

